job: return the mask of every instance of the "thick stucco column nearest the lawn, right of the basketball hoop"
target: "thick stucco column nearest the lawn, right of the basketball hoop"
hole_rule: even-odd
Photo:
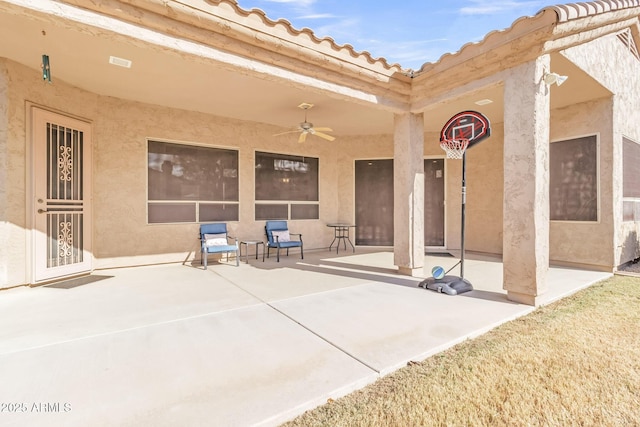
[[[504,88],[503,287],[537,305],[549,270],[549,56],[513,69]]]

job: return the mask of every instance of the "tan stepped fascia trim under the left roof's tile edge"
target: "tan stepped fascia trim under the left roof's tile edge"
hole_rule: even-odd
[[[95,2],[90,0],[64,1],[90,9],[96,8]],[[108,2],[103,1],[101,3]],[[110,2],[127,4],[138,11],[153,13],[160,20],[170,19],[218,36],[214,38],[211,35],[208,38],[198,37],[199,43],[220,43],[222,46],[219,47],[242,55],[254,56],[257,52],[263,51],[265,53],[260,60],[278,63],[279,66],[293,67],[296,63],[298,66],[301,63],[305,63],[312,65],[313,70],[316,72],[318,67],[321,67],[337,73],[342,79],[348,76],[351,79],[364,81],[367,85],[376,84],[384,85],[385,87],[391,85],[400,93],[408,93],[409,91],[407,87],[402,88],[402,86],[408,86],[409,78],[404,78],[402,69],[399,66],[382,67],[380,66],[382,62],[375,62],[374,64],[377,64],[378,67],[374,67],[368,60],[366,64],[348,61],[339,56],[339,51],[336,51],[334,47],[337,45],[332,40],[317,39],[312,36],[313,33],[310,30],[295,31],[285,20],[274,22],[263,19],[264,13],[259,13],[262,12],[259,9],[247,12],[239,8],[236,2],[230,0],[111,0]],[[217,13],[214,13],[214,10]],[[100,13],[113,14],[114,10],[102,8]],[[240,22],[240,19],[232,19],[234,17],[247,18],[252,16],[261,17],[262,24],[252,26],[248,22]],[[123,20],[131,19],[126,14],[118,14],[117,17]],[[155,22],[143,23],[140,19],[136,22],[140,25],[155,25]],[[254,22],[256,21],[254,20]],[[269,27],[266,22],[274,22],[274,25]],[[277,25],[284,25],[294,37],[285,39],[274,35],[273,31],[269,31],[269,29],[273,29]],[[177,30],[176,25],[155,25],[155,29],[163,32]],[[191,35],[191,37],[193,36],[195,34]],[[309,40],[319,40],[319,42],[306,45],[303,43],[304,37]],[[220,40],[220,38],[223,38],[223,40]],[[325,46],[329,48],[327,49]],[[287,57],[287,63],[283,63],[278,57]],[[362,56],[354,57],[352,54],[349,54],[349,57],[365,58]]]

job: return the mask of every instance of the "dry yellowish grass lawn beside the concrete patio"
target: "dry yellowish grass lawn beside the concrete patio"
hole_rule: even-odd
[[[640,426],[640,278],[600,282],[285,426]]]

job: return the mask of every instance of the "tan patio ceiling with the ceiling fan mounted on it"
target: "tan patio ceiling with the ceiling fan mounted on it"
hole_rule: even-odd
[[[64,81],[105,96],[283,128],[302,121],[304,113],[297,105],[309,102],[315,104],[308,113],[309,121],[332,127],[336,136],[393,133],[393,112],[376,105],[375,99],[354,102],[312,85],[289,84],[275,78],[268,69],[239,71],[207,57],[215,52],[206,52],[206,47],[196,43],[190,43],[193,52],[187,54],[153,40],[132,39],[108,28],[79,24],[64,16],[53,17],[5,2],[0,3],[0,37],[5,41],[0,44],[0,57],[29,68],[39,70],[42,54],[49,55],[53,84]],[[151,32],[151,37],[163,35]],[[109,64],[110,56],[132,61],[131,68]],[[554,55],[552,65],[553,71],[571,76],[562,88],[554,88],[552,108],[585,101],[585,94],[606,95],[603,88],[561,55]],[[483,99],[493,103],[475,104]],[[449,117],[465,109],[481,111],[493,123],[501,123],[502,86],[489,85],[427,107],[425,129],[437,132]]]

